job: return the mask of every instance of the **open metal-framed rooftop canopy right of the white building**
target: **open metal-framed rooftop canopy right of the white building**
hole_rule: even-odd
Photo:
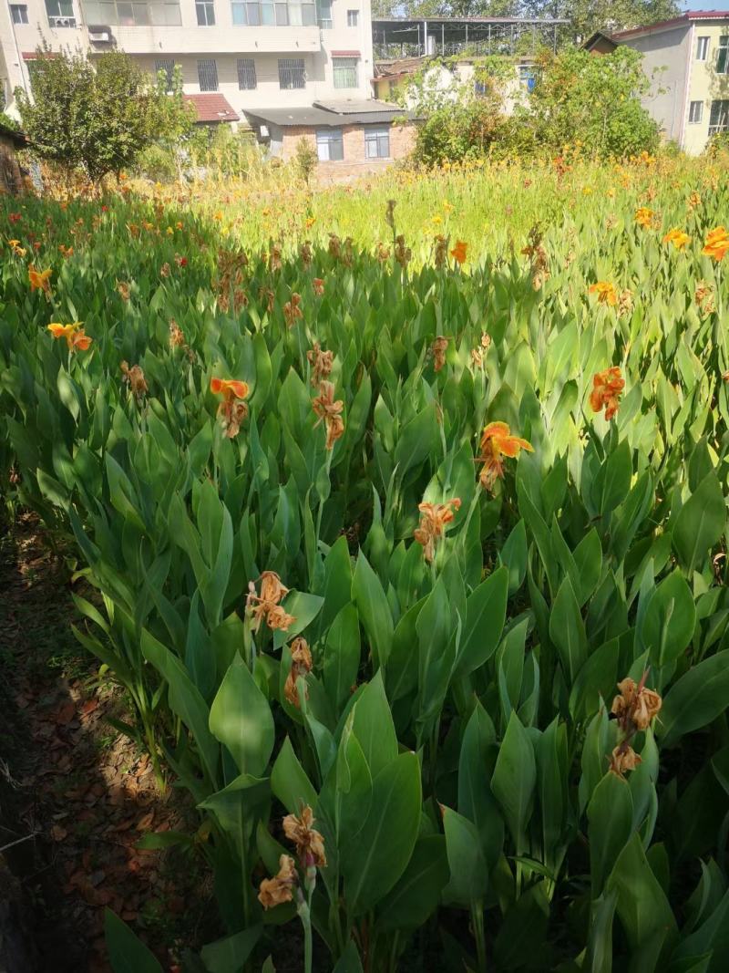
[[[521,38],[548,38],[556,48],[557,31],[569,26],[565,18],[518,17],[381,17],[372,18],[376,56],[385,59],[399,50],[423,54],[459,54],[477,50],[486,54],[514,54]]]

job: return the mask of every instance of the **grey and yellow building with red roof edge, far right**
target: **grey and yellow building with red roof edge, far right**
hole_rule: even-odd
[[[644,104],[664,135],[690,155],[729,131],[729,11],[689,11],[680,17],[611,35],[643,54],[654,90]]]

